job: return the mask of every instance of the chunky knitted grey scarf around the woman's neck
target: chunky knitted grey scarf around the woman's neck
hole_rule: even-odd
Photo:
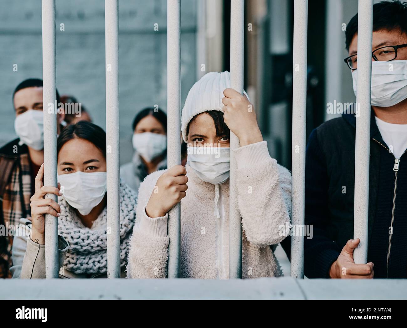
[[[58,217],[59,235],[69,243],[63,268],[73,273],[107,272],[107,209],[103,209],[92,227],[83,225],[75,210],[63,197],[58,197],[61,214]],[[120,266],[126,264],[129,237],[136,219],[136,194],[120,183]]]

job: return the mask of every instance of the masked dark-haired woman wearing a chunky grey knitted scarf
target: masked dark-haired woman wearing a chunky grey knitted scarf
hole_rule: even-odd
[[[106,133],[80,121],[63,129],[57,141],[58,188],[43,186],[44,164],[35,178],[31,221],[14,238],[13,278],[45,278],[45,214],[58,220],[60,278],[107,277]],[[58,202],[44,199],[58,195]],[[125,277],[136,194],[120,183],[120,260]],[[21,229],[20,229],[21,230]],[[23,237],[30,236],[29,238]]]

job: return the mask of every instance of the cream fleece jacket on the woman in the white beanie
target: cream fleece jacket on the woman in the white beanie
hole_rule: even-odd
[[[281,276],[271,245],[288,234],[291,174],[272,159],[267,142],[234,150],[237,162],[238,206],[243,226],[243,278]],[[229,278],[229,180],[219,185],[221,217],[214,216],[215,186],[186,166],[188,190],[181,201],[181,277]],[[162,173],[140,185],[136,224],[130,239],[127,278],[166,278],[168,213],[150,218],[145,207]]]

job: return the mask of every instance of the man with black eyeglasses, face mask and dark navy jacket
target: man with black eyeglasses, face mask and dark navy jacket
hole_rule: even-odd
[[[345,59],[355,94],[357,21],[346,28]],[[356,118],[342,114],[313,130],[306,149],[308,278],[407,277],[407,2],[373,7],[371,105],[368,263],[353,260]]]

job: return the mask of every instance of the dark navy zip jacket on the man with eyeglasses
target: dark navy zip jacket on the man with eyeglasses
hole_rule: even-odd
[[[313,238],[305,239],[308,278],[329,278],[330,266],[353,238],[355,126],[354,115],[343,114],[314,129],[309,138],[305,224],[313,225]],[[407,278],[407,153],[394,171],[395,157],[373,111],[370,129],[368,262],[374,263],[374,278]],[[289,255],[289,238],[282,246]]]

